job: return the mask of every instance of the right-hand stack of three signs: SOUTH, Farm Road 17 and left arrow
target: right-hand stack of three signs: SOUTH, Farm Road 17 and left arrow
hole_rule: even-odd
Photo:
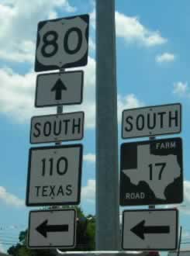
[[[120,150],[120,206],[155,206],[183,202],[182,140],[156,140],[181,132],[181,104],[126,109],[122,137],[151,137],[124,143]],[[123,212],[122,247],[127,251],[175,250],[177,209]]]

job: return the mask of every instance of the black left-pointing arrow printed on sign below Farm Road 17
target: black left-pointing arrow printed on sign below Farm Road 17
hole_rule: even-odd
[[[168,234],[170,233],[169,226],[144,226],[145,220],[138,223],[131,231],[144,240],[144,234]]]

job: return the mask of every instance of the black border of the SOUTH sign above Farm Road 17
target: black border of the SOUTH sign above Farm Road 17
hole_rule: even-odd
[[[178,132],[174,132],[174,133],[152,133],[149,135],[141,135],[141,136],[133,136],[133,137],[123,137],[123,119],[124,119],[124,112],[127,111],[131,111],[131,110],[138,110],[138,109],[151,109],[151,108],[157,108],[157,107],[164,107],[164,106],[174,106],[174,105],[179,105],[179,109],[180,109],[180,130]],[[166,104],[166,105],[157,105],[157,106],[146,106],[146,107],[140,107],[140,108],[134,108],[134,109],[124,109],[122,112],[122,125],[121,125],[121,134],[122,134],[122,139],[123,140],[130,140],[133,138],[140,138],[140,137],[152,137],[152,136],[161,136],[161,135],[168,135],[168,134],[178,134],[181,133],[181,119],[182,119],[182,106],[181,103],[177,102],[177,103],[172,103],[172,104]]]

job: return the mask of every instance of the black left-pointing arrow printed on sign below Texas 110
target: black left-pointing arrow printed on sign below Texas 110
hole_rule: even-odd
[[[68,225],[47,225],[47,220],[45,220],[36,227],[36,230],[43,235],[43,237],[47,237],[47,232],[67,232]]]

